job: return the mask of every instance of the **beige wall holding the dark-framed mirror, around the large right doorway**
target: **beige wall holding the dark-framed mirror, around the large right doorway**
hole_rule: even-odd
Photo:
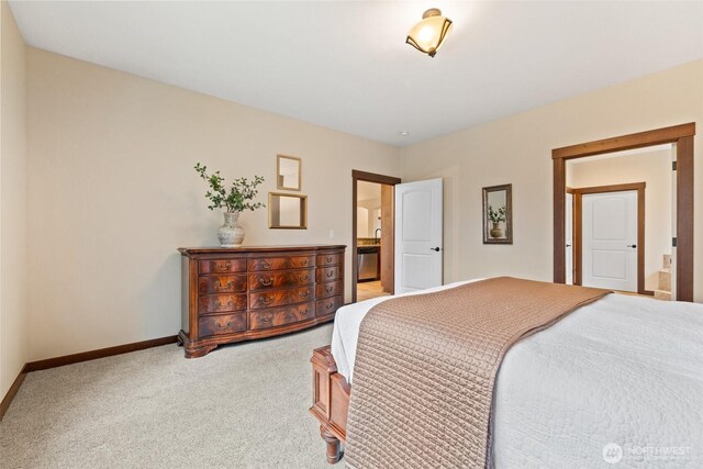
[[[553,278],[551,149],[687,122],[695,145],[695,283],[703,302],[703,60],[401,150],[404,181],[445,181],[445,281]],[[513,185],[514,244],[483,245],[481,188]]]

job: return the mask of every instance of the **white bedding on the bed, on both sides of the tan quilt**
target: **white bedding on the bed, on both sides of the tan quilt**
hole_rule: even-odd
[[[388,299],[337,311],[332,354],[349,382],[361,320]],[[703,305],[610,294],[517,343],[492,432],[496,468],[703,468]]]

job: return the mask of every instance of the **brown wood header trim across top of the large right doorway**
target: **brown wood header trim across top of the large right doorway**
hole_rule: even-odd
[[[583,158],[584,156],[601,155],[603,153],[622,152],[624,149],[643,148],[647,146],[677,143],[680,138],[695,135],[695,123],[673,125],[654,131],[638,132],[613,138],[604,138],[578,145],[565,146],[551,150],[554,159]]]

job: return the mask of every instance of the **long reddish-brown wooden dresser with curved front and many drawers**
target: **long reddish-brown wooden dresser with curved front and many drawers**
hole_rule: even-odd
[[[220,344],[300,331],[344,304],[346,246],[180,248],[187,358]]]

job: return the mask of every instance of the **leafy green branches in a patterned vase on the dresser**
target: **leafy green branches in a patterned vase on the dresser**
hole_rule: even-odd
[[[220,171],[212,175],[208,174],[208,167],[196,163],[196,171],[208,182],[210,189],[205,193],[205,198],[210,200],[208,209],[224,209],[224,224],[217,232],[220,246],[222,247],[239,247],[244,241],[244,228],[239,225],[239,214],[245,210],[256,210],[264,205],[261,202],[253,202],[258,194],[256,189],[264,178],[254,176],[254,180],[247,178],[237,178],[232,181],[232,186],[227,190],[224,178],[220,176]]]

